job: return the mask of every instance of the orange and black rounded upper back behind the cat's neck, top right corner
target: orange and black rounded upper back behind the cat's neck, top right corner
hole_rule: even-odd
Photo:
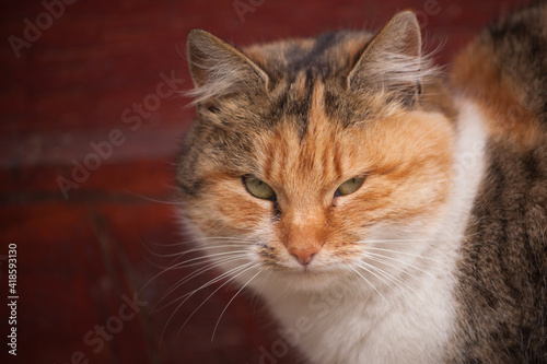
[[[547,139],[547,2],[492,22],[456,58],[452,83],[484,113],[491,137],[531,149]]]

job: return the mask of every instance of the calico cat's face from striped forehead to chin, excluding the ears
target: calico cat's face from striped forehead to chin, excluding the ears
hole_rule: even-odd
[[[302,72],[199,108],[181,160],[184,218],[211,259],[244,283],[256,273],[315,290],[370,271],[379,254],[393,265],[412,246],[382,242],[427,238],[443,211],[451,122],[335,86],[347,77]]]

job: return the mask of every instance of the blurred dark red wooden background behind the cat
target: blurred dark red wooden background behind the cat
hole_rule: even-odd
[[[280,336],[251,295],[231,303],[211,342],[233,287],[214,293],[181,329],[219,285],[196,294],[168,322],[176,304],[159,312],[153,306],[191,269],[146,285],[161,271],[158,266],[170,262],[160,254],[185,249],[176,245],[184,238],[171,201],[177,145],[194,110],[185,107],[187,98],[162,99],[135,131],[123,113],[147,96],[152,101],[162,72],[184,80],[181,91],[190,87],[184,55],[190,28],[247,45],[333,28],[377,30],[397,10],[411,8],[420,12],[429,48],[442,47],[438,59],[444,64],[491,19],[523,2],[80,0],[65,5],[18,58],[9,37],[24,38],[25,19],[36,24],[46,9],[40,1],[3,0],[0,296],[9,295],[5,259],[8,244],[15,243],[20,298],[16,357],[8,355],[7,305],[0,310],[0,362],[70,363],[80,351],[90,363],[259,363],[264,350],[282,351]],[[255,5],[240,17],[237,3]],[[93,153],[90,143],[108,140],[114,129],[125,141],[65,198],[57,179],[71,178],[71,161],[83,163]],[[181,286],[165,303],[212,278]],[[84,336],[114,322],[123,295],[132,292],[148,304],[94,352],[97,347]],[[295,357],[293,351],[278,356],[278,363]]]

